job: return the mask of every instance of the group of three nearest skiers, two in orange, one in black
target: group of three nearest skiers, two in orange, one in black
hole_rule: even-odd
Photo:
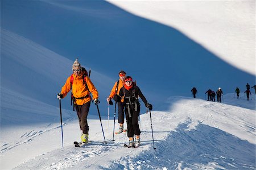
[[[79,118],[81,142],[88,143],[89,126],[87,117],[90,108],[90,101],[93,101],[98,109],[98,104],[100,103],[98,100],[98,91],[90,80],[88,72],[85,70],[85,68],[81,67],[81,64],[77,59],[72,65],[72,71],[73,73],[67,78],[67,81],[61,88],[61,92],[57,94],[57,98],[62,99],[67,96],[69,91],[71,91],[73,105],[76,108],[77,117]],[[127,123],[127,136],[129,137],[128,147],[138,147],[141,144],[141,130],[139,129],[138,124],[138,117],[141,108],[139,97],[142,99],[147,109],[152,110],[152,105],[147,102],[147,99],[143,96],[141,90],[133,81],[131,76],[126,76],[125,71],[120,71],[118,76],[119,80],[115,82],[110,95],[106,98],[106,101],[109,103],[109,105],[113,105],[112,99],[114,99],[115,107],[116,105],[118,106],[119,131],[116,132],[116,134],[124,131],[123,123],[125,114]],[[91,97],[90,94],[92,94],[93,97]],[[99,110],[98,114],[100,115]]]

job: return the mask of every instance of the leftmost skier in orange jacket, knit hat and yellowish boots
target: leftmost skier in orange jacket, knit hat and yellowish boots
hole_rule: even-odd
[[[82,69],[79,61],[73,64],[73,74],[67,78],[65,85],[61,88],[61,92],[57,94],[57,98],[61,99],[67,96],[71,90],[73,102],[76,107],[77,116],[79,118],[80,130],[82,131],[81,140],[84,143],[89,141],[89,126],[87,123],[87,116],[90,108],[90,93],[93,95],[93,102],[98,105],[98,92],[94,87],[90,78],[82,74]]]

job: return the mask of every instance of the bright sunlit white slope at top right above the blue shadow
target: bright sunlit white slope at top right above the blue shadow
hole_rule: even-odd
[[[255,1],[109,2],[174,27],[222,60],[255,75]]]

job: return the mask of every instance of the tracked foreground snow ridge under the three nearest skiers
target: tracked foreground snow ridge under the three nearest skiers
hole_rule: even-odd
[[[73,146],[80,130],[75,112],[63,110],[64,147],[60,123],[6,128],[1,134],[3,169],[255,169],[255,96],[235,106],[232,94],[226,103],[188,97],[170,97],[169,111],[141,115],[141,147],[123,148],[126,133],[114,135],[113,113],[103,117],[108,143],[104,144],[100,121],[89,118],[89,140],[82,148]],[[238,99],[239,101],[239,99]],[[40,107],[40,106],[39,106]],[[95,106],[91,106],[95,107]],[[142,107],[144,108],[144,107]],[[143,109],[142,109],[143,110]],[[57,108],[55,108],[57,111]],[[143,113],[143,111],[142,111]],[[70,115],[71,114],[71,115]],[[117,122],[117,121],[116,121]],[[118,123],[115,124],[115,131]],[[18,138],[13,138],[13,132]],[[15,156],[13,156],[15,154]]]

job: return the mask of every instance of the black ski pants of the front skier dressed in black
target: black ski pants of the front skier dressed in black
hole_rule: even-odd
[[[129,117],[128,107],[130,107],[130,114]],[[139,104],[137,105],[137,111],[135,111],[134,105],[125,105],[125,116],[127,122],[127,136],[133,137],[134,135],[141,135],[141,130],[139,129],[139,111],[140,111]]]

